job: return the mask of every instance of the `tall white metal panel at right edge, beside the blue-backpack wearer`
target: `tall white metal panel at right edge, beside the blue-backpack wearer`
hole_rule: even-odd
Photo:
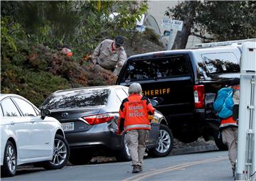
[[[235,181],[256,180],[256,43],[242,43]]]

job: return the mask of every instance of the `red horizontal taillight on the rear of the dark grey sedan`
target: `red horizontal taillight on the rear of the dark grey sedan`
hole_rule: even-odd
[[[113,114],[97,114],[92,116],[82,117],[88,124],[102,124],[108,121],[111,121],[114,118]]]

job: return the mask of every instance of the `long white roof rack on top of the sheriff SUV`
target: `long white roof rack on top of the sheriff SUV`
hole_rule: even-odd
[[[232,40],[232,41],[220,41],[220,42],[213,42],[213,43],[200,43],[196,44],[195,48],[210,48],[210,47],[218,47],[218,46],[227,46],[227,45],[241,45],[247,41],[255,41],[256,38],[245,39],[245,40]]]

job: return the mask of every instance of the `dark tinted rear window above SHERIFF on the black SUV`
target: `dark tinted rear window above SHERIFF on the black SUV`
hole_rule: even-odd
[[[137,79],[161,79],[188,75],[188,64],[183,56],[165,59],[131,61],[124,75],[125,81]]]

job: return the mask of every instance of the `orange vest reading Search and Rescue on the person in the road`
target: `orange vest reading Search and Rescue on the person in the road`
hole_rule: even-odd
[[[154,114],[154,110],[149,99],[142,97],[140,94],[131,94],[123,100],[119,110],[120,120],[124,120],[124,131],[133,129],[151,130],[149,115]]]

